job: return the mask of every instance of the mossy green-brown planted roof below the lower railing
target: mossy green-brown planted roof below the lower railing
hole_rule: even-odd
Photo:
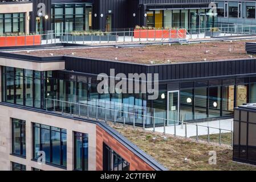
[[[232,149],[218,144],[196,142],[194,139],[173,137],[161,133],[152,133],[131,127],[113,126],[141,150],[155,158],[164,167],[172,171],[184,170],[256,170],[255,166],[232,161]],[[165,137],[165,138],[164,138]],[[210,165],[209,151],[217,152],[217,164]]]

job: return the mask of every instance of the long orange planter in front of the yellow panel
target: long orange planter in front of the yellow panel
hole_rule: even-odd
[[[184,28],[157,29],[152,27],[137,27],[134,30],[134,38],[141,39],[178,39],[186,38],[186,30]]]

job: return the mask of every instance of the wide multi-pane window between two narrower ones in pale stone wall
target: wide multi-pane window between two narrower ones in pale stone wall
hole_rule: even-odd
[[[58,127],[33,123],[33,158],[44,151],[46,163],[67,166],[67,131]]]

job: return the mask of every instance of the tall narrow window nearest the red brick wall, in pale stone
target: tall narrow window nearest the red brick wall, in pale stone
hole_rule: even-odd
[[[88,171],[88,134],[74,132],[74,169]]]

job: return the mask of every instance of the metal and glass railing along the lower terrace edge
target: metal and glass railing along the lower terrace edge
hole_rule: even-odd
[[[51,98],[45,99],[45,109],[47,111],[53,111],[63,115],[89,118],[96,121],[101,120],[103,122],[110,121],[113,122],[114,125],[116,125],[116,123],[121,123],[123,126],[131,125],[133,129],[135,129],[135,127],[141,127],[143,130],[173,134],[175,137],[180,136],[185,138],[194,138],[196,140],[201,139],[207,140],[207,142],[217,142],[219,144],[233,144],[233,130],[221,129],[221,127],[205,126],[198,123],[188,123],[184,122],[183,119],[181,119],[181,121],[175,121],[172,119],[160,118],[155,116],[155,111],[153,111],[152,115],[139,114],[136,112],[124,111],[123,109],[116,109],[115,106],[109,108],[107,107],[108,105],[109,103],[105,100],[102,100],[100,104],[96,103],[95,105],[88,105]],[[127,122],[127,118],[132,118],[132,122]],[[136,122],[137,118],[140,118],[142,123]],[[156,119],[161,119],[164,122],[162,125],[159,125],[159,123],[155,122]],[[150,128],[147,128],[148,123],[146,123],[146,121],[151,121]],[[169,123],[171,123],[171,125],[169,125]],[[228,138],[227,141],[222,141],[222,136],[224,139]]]

